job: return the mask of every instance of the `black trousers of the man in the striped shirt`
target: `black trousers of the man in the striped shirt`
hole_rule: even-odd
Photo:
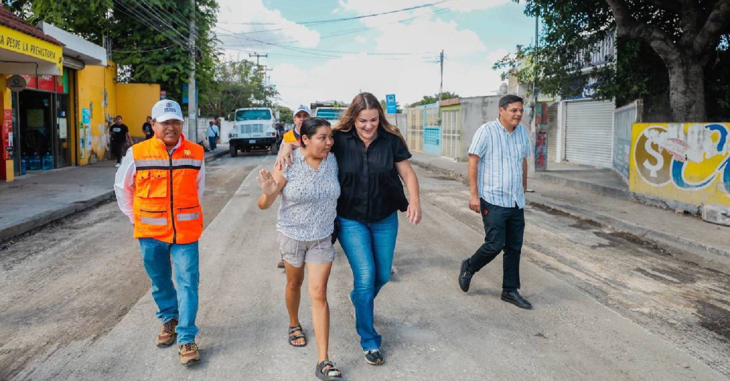
[[[515,207],[505,208],[480,199],[484,223],[484,243],[469,258],[469,272],[478,272],[504,250],[502,288],[520,288],[520,253],[525,234],[525,211]]]

